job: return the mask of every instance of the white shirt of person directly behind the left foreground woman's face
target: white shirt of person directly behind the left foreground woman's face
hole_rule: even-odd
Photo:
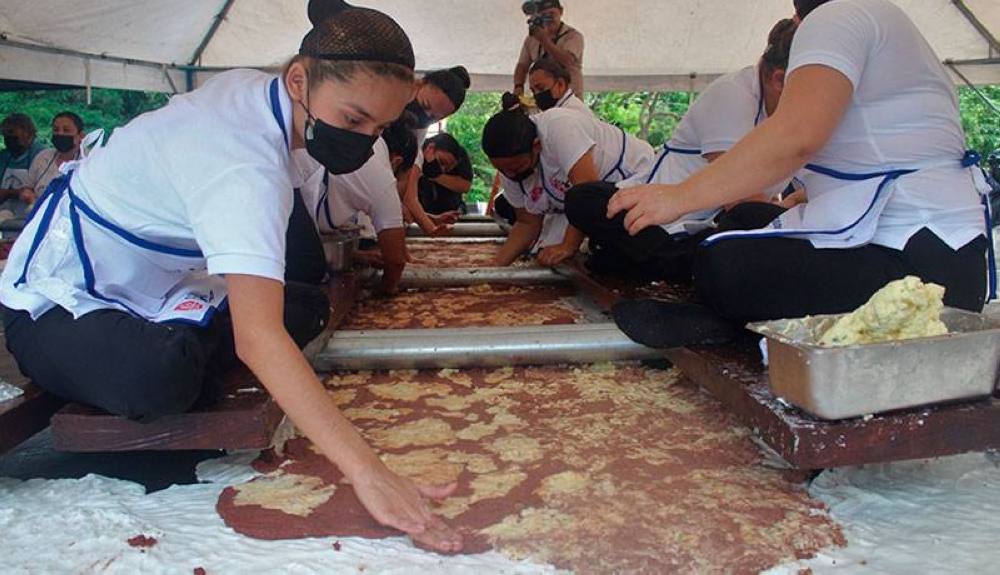
[[[389,147],[385,140],[375,142],[374,154],[361,169],[339,176],[330,175],[305,150],[292,157],[306,183],[302,199],[321,230],[333,231],[345,224],[357,224],[358,212],[368,215],[375,232],[403,227],[403,207],[392,174]]]

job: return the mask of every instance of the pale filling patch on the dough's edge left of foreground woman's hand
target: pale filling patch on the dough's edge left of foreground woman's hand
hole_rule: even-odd
[[[236,506],[256,505],[288,515],[308,517],[333,496],[337,486],[324,485],[318,477],[279,471],[237,485],[235,489],[233,503]]]

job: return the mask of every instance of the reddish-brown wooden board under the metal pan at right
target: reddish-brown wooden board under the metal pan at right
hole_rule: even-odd
[[[612,291],[578,267],[564,267],[581,291],[604,308]],[[770,391],[756,340],[668,350],[673,362],[753,429],[790,465],[825,469],[1000,449],[1000,400],[938,405],[868,419],[824,421],[779,401]]]

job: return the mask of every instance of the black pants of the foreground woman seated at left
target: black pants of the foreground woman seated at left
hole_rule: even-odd
[[[289,223],[289,239],[298,240],[289,241],[284,323],[304,347],[326,327],[330,303],[323,286],[304,281],[315,280],[319,268],[325,274],[325,260],[322,245],[318,256],[301,249],[309,245],[310,230],[319,242],[315,224],[301,208],[306,218],[293,212]],[[39,387],[138,421],[206,402],[214,384],[238,363],[227,312],[217,313],[206,327],[153,323],[112,309],[74,319],[58,306],[37,320],[4,308],[3,322],[7,349]]]

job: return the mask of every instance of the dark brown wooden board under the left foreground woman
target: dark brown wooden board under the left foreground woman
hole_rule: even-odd
[[[357,298],[353,274],[336,276],[329,284],[330,321],[304,353],[315,355],[326,346]],[[220,399],[204,408],[171,415],[152,423],[137,423],[92,407],[71,404],[52,418],[53,443],[63,451],[146,451],[196,449],[265,449],[270,447],[284,417],[246,368],[230,374]]]

